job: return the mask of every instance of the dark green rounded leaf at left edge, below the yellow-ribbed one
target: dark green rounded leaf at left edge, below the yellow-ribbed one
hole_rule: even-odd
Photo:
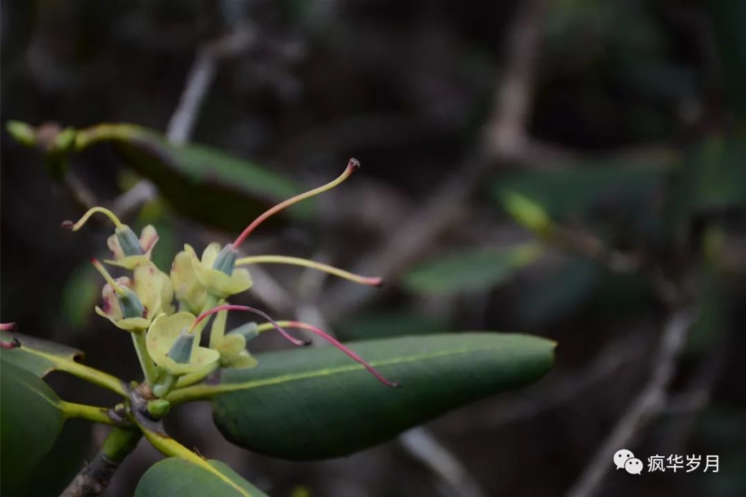
[[[54,445],[64,422],[59,399],[31,371],[6,361],[0,370],[0,487],[12,495]]]

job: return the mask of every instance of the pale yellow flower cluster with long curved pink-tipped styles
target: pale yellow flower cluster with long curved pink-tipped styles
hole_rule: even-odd
[[[267,210],[244,229],[233,241],[221,247],[207,245],[201,256],[189,244],[176,254],[169,274],[151,262],[151,252],[158,241],[156,229],[146,226],[140,237],[108,209],[94,207],[77,222],[65,221],[63,227],[77,231],[94,214],[106,215],[114,224],[114,234],[107,245],[112,258],[107,265],[127,272],[113,277],[93,259],[93,265],[106,280],[101,291],[101,306],[95,311],[119,329],[131,333],[145,384],[156,396],[165,396],[175,387],[186,386],[204,379],[218,367],[254,367],[257,360],[246,349],[247,342],[269,329],[275,329],[295,345],[307,342],[293,338],[286,328],[305,329],[319,335],[363,364],[377,379],[389,386],[395,383],[384,379],[363,358],[330,335],[307,323],[275,321],[263,311],[248,306],[228,304],[228,299],[251,288],[251,275],[242,266],[262,263],[291,264],[315,268],[363,285],[379,286],[380,278],[358,276],[319,262],[287,256],[247,256],[239,258],[239,247],[248,235],[266,218],[313,195],[342,183],[360,167],[350,159],[345,171],[330,183],[299,194]],[[267,322],[246,323],[225,331],[228,311],[249,311]],[[216,314],[210,328],[209,346],[201,345],[201,333],[210,317]]]

